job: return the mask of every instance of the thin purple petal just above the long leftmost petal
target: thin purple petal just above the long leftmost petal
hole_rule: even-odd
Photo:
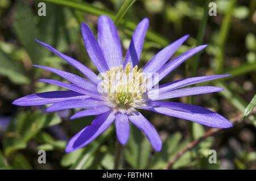
[[[60,82],[60,81],[56,81],[56,80],[52,80],[52,79],[39,79],[40,82],[46,82],[52,85],[56,85],[56,86],[60,86],[60,87],[64,87],[65,89],[69,89],[75,92],[79,92],[81,94],[85,94],[88,95],[92,98],[95,99],[100,99],[101,98],[101,94],[96,92],[96,91],[90,91],[90,90],[85,90],[79,86],[76,86],[72,83],[65,83],[65,82]]]

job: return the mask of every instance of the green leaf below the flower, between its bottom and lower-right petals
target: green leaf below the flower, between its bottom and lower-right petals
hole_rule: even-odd
[[[125,159],[133,169],[145,169],[150,157],[150,142],[134,125],[130,128],[130,138],[124,149]]]

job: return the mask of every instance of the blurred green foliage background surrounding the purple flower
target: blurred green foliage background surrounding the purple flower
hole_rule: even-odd
[[[256,88],[256,1],[135,1],[122,14],[124,0],[46,2],[46,16],[38,15],[39,1],[0,1],[0,169],[113,169],[116,149],[114,127],[90,145],[73,153],[64,149],[69,138],[89,125],[94,117],[70,121],[71,111],[45,113],[45,107],[17,107],[13,100],[35,92],[60,90],[37,82],[39,78],[59,79],[32,64],[51,66],[81,75],[34,39],[96,70],[86,53],[80,24],[86,22],[97,32],[97,17],[105,14],[122,18],[118,30],[127,50],[136,24],[150,19],[141,62],[144,65],[158,50],[179,37],[191,36],[175,56],[200,44],[209,46],[171,73],[163,82],[197,75],[232,74],[207,82],[224,87],[218,94],[175,99],[207,107],[233,119],[245,112]],[[131,1],[130,1],[131,2]],[[209,2],[217,15],[209,16]],[[117,12],[119,11],[119,14]],[[125,52],[125,51],[124,51]],[[82,75],[81,75],[82,76]],[[250,106],[255,106],[254,100]],[[247,113],[248,109],[246,110]],[[164,169],[180,150],[209,131],[209,127],[156,113],[142,112],[156,127],[164,142],[160,153],[152,151],[147,138],[132,127],[123,151],[123,169]],[[233,128],[207,137],[183,154],[172,169],[256,169],[256,117],[250,115]],[[46,150],[46,164],[38,163],[38,150]],[[217,151],[217,163],[208,162],[209,150]]]

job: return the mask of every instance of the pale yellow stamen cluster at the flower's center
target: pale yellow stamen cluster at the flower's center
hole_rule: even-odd
[[[113,103],[120,106],[134,106],[146,92],[146,81],[142,69],[131,64],[111,68],[102,75],[102,89]]]

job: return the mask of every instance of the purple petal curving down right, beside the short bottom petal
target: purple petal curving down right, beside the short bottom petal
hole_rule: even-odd
[[[148,138],[155,151],[162,149],[162,141],[153,125],[140,112],[131,108],[128,118],[136,127],[138,127]]]

